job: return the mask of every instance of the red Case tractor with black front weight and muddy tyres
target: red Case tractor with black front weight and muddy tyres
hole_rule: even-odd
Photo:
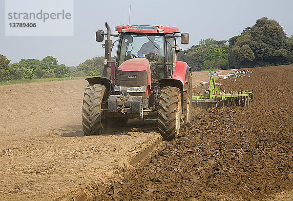
[[[102,77],[87,78],[83,99],[84,135],[102,134],[109,121],[126,124],[128,119],[158,119],[164,140],[177,137],[180,126],[190,122],[191,68],[176,60],[189,34],[177,27],[116,26],[118,34],[99,30],[96,40],[105,48]],[[111,60],[111,36],[117,37],[116,59]]]

